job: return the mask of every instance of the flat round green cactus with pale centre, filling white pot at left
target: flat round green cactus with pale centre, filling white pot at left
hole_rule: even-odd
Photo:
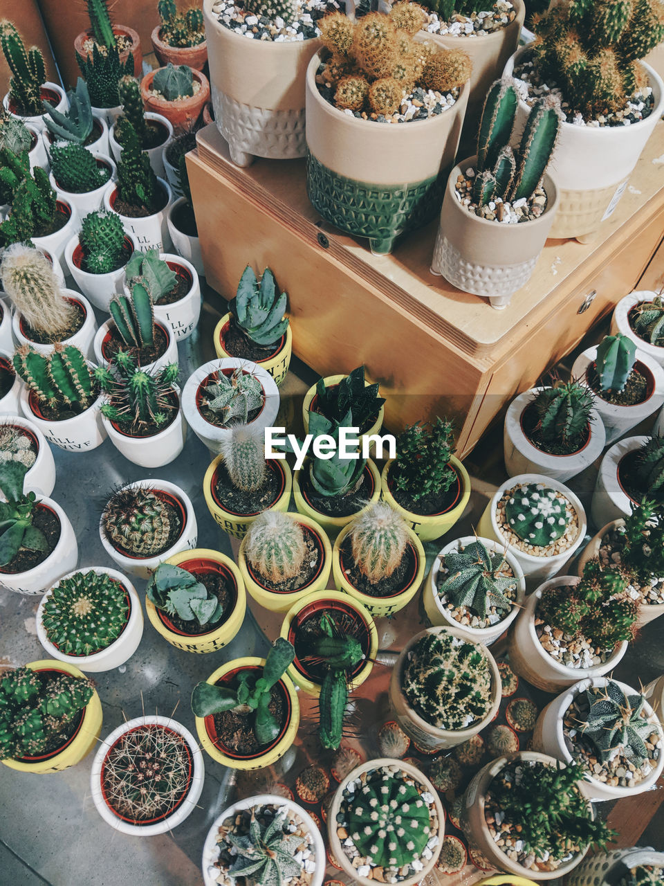
[[[42,626],[65,655],[90,656],[118,639],[127,624],[127,592],[106,572],[75,572],[46,598]]]

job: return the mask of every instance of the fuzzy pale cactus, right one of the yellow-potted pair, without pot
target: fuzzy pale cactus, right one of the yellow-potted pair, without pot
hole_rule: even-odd
[[[351,523],[352,558],[370,582],[388,578],[405,553],[408,527],[386,501],[375,501]]]

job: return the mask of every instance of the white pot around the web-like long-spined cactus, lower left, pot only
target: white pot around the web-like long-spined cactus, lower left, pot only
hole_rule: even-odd
[[[160,728],[165,732],[181,735],[186,742],[187,758],[188,758],[188,777],[187,787],[181,793],[181,797],[174,805],[171,812],[163,813],[154,819],[146,821],[132,821],[117,812],[111,805],[104,784],[104,770],[109,752],[120,738],[132,732],[133,730],[143,729],[145,727]],[[111,825],[121,834],[131,836],[155,836],[158,834],[166,834],[177,828],[182,821],[189,817],[191,812],[196,808],[199,797],[203,790],[203,782],[205,780],[205,763],[203,754],[197,745],[194,736],[189,729],[181,726],[170,717],[159,717],[157,715],[145,715],[127,720],[120,723],[117,729],[113,729],[110,735],[104,738],[100,743],[95,759],[92,762],[92,770],[90,772],[90,791],[92,799],[97,806],[97,812],[104,819],[106,824]]]

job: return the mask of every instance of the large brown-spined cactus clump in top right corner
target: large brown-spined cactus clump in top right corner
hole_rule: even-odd
[[[659,0],[568,0],[533,19],[540,77],[592,117],[619,110],[645,85],[638,64],[664,38]]]

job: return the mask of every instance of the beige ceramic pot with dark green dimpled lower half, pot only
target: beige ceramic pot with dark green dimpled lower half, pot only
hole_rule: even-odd
[[[359,120],[319,93],[320,55],[306,71],[306,191],[325,221],[371,251],[392,251],[397,238],[438,212],[459,145],[469,86],[429,120],[394,126]]]

